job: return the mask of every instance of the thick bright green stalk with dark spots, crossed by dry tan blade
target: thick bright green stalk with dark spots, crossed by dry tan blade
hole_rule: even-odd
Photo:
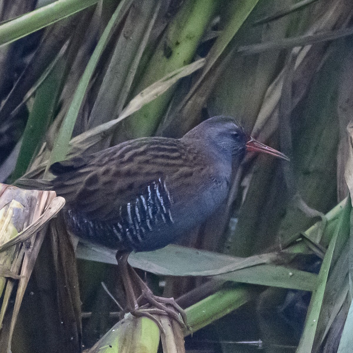
[[[184,2],[146,65],[133,96],[168,73],[191,62],[214,13],[215,4],[214,0]],[[154,133],[173,92],[173,89],[169,89],[132,115],[129,119],[129,128],[133,137],[150,136]]]

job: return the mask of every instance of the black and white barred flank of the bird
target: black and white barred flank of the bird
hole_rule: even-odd
[[[74,209],[66,210],[65,220],[75,234],[94,243],[121,251],[154,250],[164,246],[154,232],[174,223],[172,203],[165,182],[158,179],[134,201],[120,206],[114,221],[91,219]]]

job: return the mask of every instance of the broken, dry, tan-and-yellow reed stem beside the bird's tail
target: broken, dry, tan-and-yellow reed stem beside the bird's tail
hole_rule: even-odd
[[[0,183],[0,351],[11,351],[11,337],[48,221],[64,206],[54,191],[24,190]],[[18,280],[11,320],[4,320]]]

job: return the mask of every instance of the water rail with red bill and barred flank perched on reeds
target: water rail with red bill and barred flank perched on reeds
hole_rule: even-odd
[[[74,234],[117,251],[125,290],[134,296],[127,255],[160,249],[201,225],[226,201],[246,151],[288,160],[234,118],[214,116],[179,139],[137,138],[56,162],[49,169],[54,178],[42,186],[65,198],[62,211]],[[136,298],[130,306],[137,310]]]

